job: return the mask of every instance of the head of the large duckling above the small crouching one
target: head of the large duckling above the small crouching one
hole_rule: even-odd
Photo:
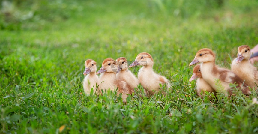
[[[212,52],[211,49],[208,49],[208,48],[200,49],[196,53],[193,61],[189,64],[189,66],[199,62],[215,62],[215,54]]]

